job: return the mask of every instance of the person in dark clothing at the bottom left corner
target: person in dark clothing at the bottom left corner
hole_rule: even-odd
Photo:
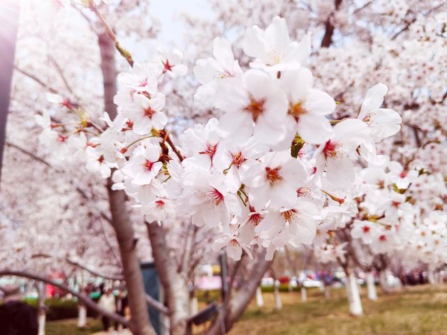
[[[0,305],[0,334],[37,335],[37,313],[34,308],[20,301],[20,288],[1,288],[4,292]]]

